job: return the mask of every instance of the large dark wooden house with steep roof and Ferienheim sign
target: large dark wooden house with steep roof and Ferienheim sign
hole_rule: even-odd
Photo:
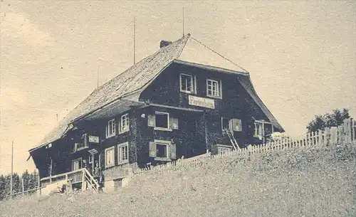
[[[94,90],[29,152],[42,185],[80,184],[76,171],[95,161],[105,183],[120,185],[132,168],[243,148],[277,131],[248,72],[188,34]]]

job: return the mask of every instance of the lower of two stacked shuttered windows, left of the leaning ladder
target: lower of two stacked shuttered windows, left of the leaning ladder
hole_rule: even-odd
[[[150,142],[150,157],[155,157],[155,160],[170,161],[176,159],[176,144],[166,140],[155,139]]]

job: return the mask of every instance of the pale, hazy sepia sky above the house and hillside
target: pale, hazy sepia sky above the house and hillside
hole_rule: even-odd
[[[356,117],[355,1],[0,2],[0,174],[99,84],[184,33],[248,70],[290,135],[314,115]]]

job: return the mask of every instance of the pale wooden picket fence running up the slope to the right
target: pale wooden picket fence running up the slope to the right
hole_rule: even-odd
[[[301,139],[286,138],[277,142],[265,144],[250,144],[244,149],[237,149],[223,154],[201,154],[197,157],[178,159],[174,162],[158,166],[150,166],[143,169],[135,169],[133,177],[152,176],[155,174],[166,174],[170,171],[177,171],[183,168],[198,168],[203,164],[215,162],[228,156],[248,157],[253,154],[266,152],[281,152],[287,149],[305,149],[308,147],[327,147],[337,144],[356,144],[356,120],[347,119],[338,127],[327,127],[325,130],[318,130],[305,134]]]

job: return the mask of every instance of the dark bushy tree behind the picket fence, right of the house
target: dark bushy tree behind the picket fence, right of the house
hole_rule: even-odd
[[[344,120],[350,118],[349,110],[343,109],[342,111],[336,109],[333,113],[326,113],[325,115],[315,115],[314,119],[309,122],[308,132],[315,132],[318,129],[324,130],[325,127],[337,127],[342,125]]]

